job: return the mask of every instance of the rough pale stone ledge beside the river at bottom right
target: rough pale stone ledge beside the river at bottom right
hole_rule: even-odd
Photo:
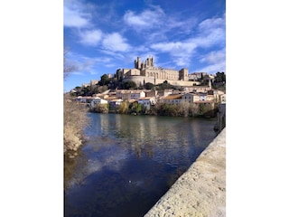
[[[226,216],[226,128],[144,217]]]

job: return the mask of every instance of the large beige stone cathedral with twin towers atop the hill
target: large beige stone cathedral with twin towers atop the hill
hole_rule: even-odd
[[[118,80],[132,80],[137,85],[151,82],[154,84],[163,83],[167,80],[172,85],[192,86],[193,81],[189,81],[188,69],[169,70],[154,66],[154,58],[149,57],[146,61],[141,61],[140,57],[135,60],[134,69],[123,69],[117,71]]]

